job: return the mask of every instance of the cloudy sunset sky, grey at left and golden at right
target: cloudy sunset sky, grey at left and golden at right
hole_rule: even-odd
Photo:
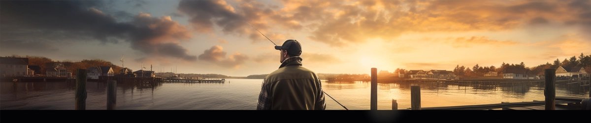
[[[268,74],[295,39],[316,73],[534,67],[591,54],[591,1],[0,1],[0,55]],[[255,28],[251,27],[248,23]]]

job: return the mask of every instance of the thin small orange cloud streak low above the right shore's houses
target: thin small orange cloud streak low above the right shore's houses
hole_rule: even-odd
[[[446,43],[452,44],[454,48],[462,48],[462,47],[472,47],[474,45],[488,45],[488,46],[512,46],[519,44],[514,41],[498,41],[498,40],[489,40],[488,37],[457,37],[452,40],[445,41]]]

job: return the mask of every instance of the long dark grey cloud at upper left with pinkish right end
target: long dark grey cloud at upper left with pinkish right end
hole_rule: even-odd
[[[96,9],[104,8],[101,1],[2,1],[0,5],[2,47],[16,44],[6,41],[63,42],[86,38],[78,41],[118,43],[124,40],[130,42],[134,50],[148,55],[197,60],[196,56],[187,54],[187,50],[179,45],[180,41],[191,38],[190,31],[170,17],[155,18],[150,14],[138,14],[129,22],[118,22],[115,16]],[[129,17],[130,14],[118,12],[115,15]],[[15,34],[5,30],[20,31]],[[64,33],[39,34],[38,31]],[[33,47],[44,47],[46,44],[30,43]]]

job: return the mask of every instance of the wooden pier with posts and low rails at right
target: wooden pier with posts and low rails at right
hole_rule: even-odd
[[[543,80],[508,80],[504,79],[499,81],[491,80],[389,80],[386,83],[409,83],[411,84],[411,108],[407,110],[589,110],[591,106],[591,89],[589,89],[589,80],[556,80],[556,69],[545,69],[545,79]],[[377,99],[373,98],[377,95],[376,84],[378,83],[378,77],[375,73],[376,69],[371,69],[371,110],[376,110],[375,103]],[[384,82],[382,82],[384,83]],[[423,83],[434,83],[434,84],[457,84],[459,86],[474,86],[475,88],[492,89],[496,86],[521,86],[521,85],[536,85],[544,86],[544,101],[531,101],[531,102],[501,102],[486,105],[459,105],[459,106],[442,106],[442,107],[421,107],[421,84]],[[428,85],[428,84],[427,84]],[[589,93],[589,98],[575,98],[575,97],[562,97],[556,96],[556,86],[566,86],[566,88],[576,88],[580,90],[587,90],[585,93]],[[430,88],[430,86],[427,86]],[[392,110],[398,109],[398,101],[392,99]],[[402,109],[404,110],[404,109]]]

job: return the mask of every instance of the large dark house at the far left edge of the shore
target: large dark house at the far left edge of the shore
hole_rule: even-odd
[[[0,74],[2,76],[27,76],[28,58],[0,57]]]

